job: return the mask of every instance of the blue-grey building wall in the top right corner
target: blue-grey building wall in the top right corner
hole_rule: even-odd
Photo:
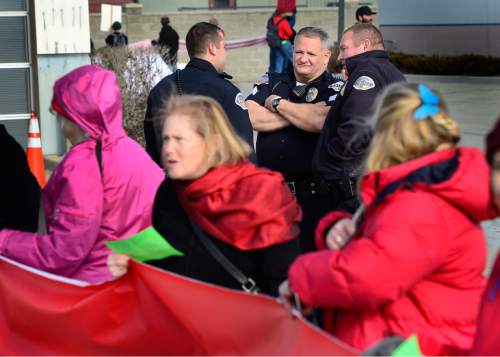
[[[499,57],[499,15],[498,0],[380,0],[379,23],[401,52]]]

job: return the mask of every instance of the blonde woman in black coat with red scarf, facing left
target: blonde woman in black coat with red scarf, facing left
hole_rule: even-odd
[[[167,178],[156,194],[153,225],[184,256],[151,263],[242,289],[207,250],[205,239],[261,292],[276,296],[280,279],[299,253],[301,210],[283,177],[247,161],[249,145],[215,100],[173,97],[161,115]],[[128,257],[112,254],[108,265],[119,277],[127,270]]]

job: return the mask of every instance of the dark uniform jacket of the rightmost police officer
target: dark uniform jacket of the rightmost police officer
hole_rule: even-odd
[[[375,98],[390,83],[406,81],[385,51],[352,56],[346,65],[349,78],[326,117],[312,165],[315,176],[327,180],[360,175]]]

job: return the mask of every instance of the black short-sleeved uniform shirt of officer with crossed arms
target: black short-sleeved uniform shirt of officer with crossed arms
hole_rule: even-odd
[[[293,71],[263,78],[247,97],[247,100],[262,106],[271,94],[293,103],[326,102],[331,106],[343,85],[342,81],[334,79],[326,71],[303,87],[297,86]],[[301,95],[297,95],[299,91]],[[318,133],[310,133],[293,125],[276,131],[260,132],[257,135],[257,162],[259,166],[281,172],[287,181],[310,179],[311,161],[318,138]]]

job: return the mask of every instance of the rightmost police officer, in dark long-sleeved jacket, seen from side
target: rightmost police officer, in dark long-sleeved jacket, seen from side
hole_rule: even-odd
[[[356,185],[371,139],[367,119],[380,91],[406,81],[389,62],[380,31],[358,23],[344,32],[339,60],[347,72],[335,104],[328,113],[313,159],[315,177],[331,187],[331,210],[353,213],[359,206]]]

